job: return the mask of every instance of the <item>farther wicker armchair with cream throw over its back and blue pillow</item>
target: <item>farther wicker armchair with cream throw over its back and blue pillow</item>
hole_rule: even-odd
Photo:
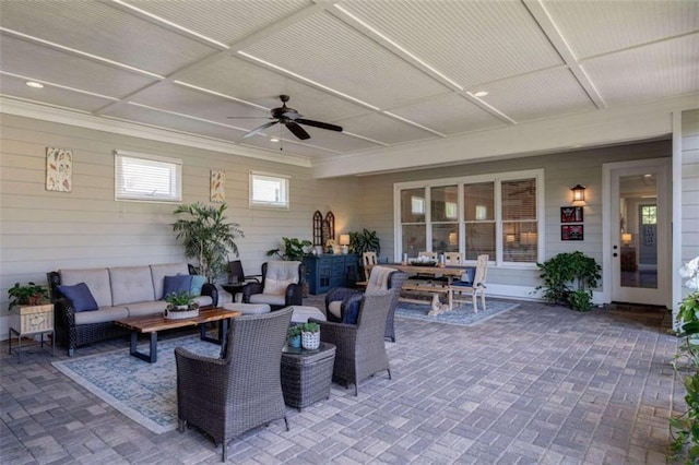
[[[386,271],[386,266],[374,266],[371,271],[375,270]],[[393,291],[391,298],[391,305],[389,307],[389,312],[386,318],[386,334],[384,337],[387,339],[391,339],[395,342],[395,329],[393,326],[393,318],[395,315],[395,308],[398,307],[398,299],[401,296],[401,287],[403,283],[405,283],[406,274],[390,269],[389,276],[387,279],[387,287]],[[380,290],[381,286],[371,279],[369,275],[369,282],[367,284],[367,291]],[[325,314],[328,315],[328,321],[334,321],[339,323],[350,322],[348,312],[356,312],[358,308],[358,302],[362,300],[363,291],[358,289],[350,289],[346,287],[335,287],[330,289],[330,291],[325,295]],[[334,303],[333,303],[334,302]],[[340,302],[340,303],[337,303]],[[337,306],[340,307],[340,314],[337,315]]]

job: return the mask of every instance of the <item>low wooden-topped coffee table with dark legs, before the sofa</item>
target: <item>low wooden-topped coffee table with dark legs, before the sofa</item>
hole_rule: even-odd
[[[115,323],[131,331],[130,354],[137,358],[140,358],[141,360],[145,360],[150,363],[155,363],[157,361],[158,331],[199,325],[199,336],[202,341],[221,344],[222,349],[225,350],[226,333],[228,332],[228,320],[239,315],[239,311],[230,311],[216,308],[200,310],[199,317],[192,317],[181,320],[168,320],[161,314],[151,314],[144,317],[122,318],[119,320],[115,320]],[[214,321],[217,321],[220,323],[218,338],[206,336],[205,324]],[[139,344],[139,334],[151,335],[149,354],[144,354],[138,350],[137,346]]]

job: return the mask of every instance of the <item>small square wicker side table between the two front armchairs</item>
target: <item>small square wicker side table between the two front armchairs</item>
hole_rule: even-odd
[[[335,346],[320,343],[317,350],[284,347],[282,353],[282,392],[284,402],[300,412],[330,397]]]

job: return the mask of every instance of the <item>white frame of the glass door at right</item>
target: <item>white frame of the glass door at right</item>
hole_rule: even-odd
[[[663,305],[672,308],[672,192],[670,191],[671,176],[671,158],[649,158],[630,162],[605,163],[602,165],[602,298],[605,303],[612,302],[613,299],[613,253],[615,245],[619,246],[618,239],[618,222],[613,222],[614,214],[612,212],[613,192],[612,192],[612,171],[617,169],[629,169],[639,167],[662,168],[662,176],[657,177],[657,208],[659,208],[659,228],[664,227],[664,241],[659,241],[657,249],[657,293],[662,296],[654,305]],[[662,223],[662,224],[661,224]],[[613,228],[614,226],[614,228]],[[619,249],[616,250],[620,252]],[[662,277],[662,278],[661,278]],[[643,302],[638,302],[643,303]]]

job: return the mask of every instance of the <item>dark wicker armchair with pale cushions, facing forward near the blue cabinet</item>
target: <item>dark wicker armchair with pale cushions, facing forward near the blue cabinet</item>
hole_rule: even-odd
[[[262,263],[262,283],[248,283],[242,288],[244,303],[266,303],[272,310],[304,305],[301,262],[271,261]],[[285,284],[288,283],[289,284]]]

